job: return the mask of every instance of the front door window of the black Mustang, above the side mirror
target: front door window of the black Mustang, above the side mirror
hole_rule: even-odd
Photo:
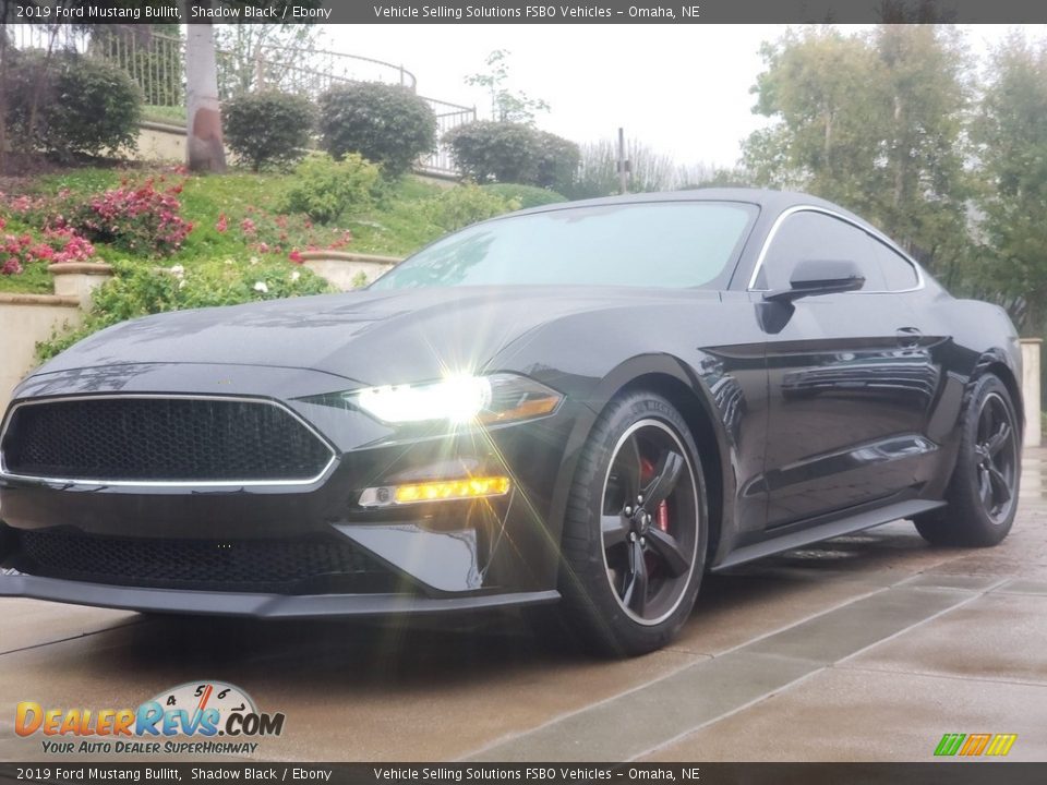
[[[799,262],[818,259],[854,262],[865,276],[863,289],[883,291],[883,275],[874,242],[862,229],[839,218],[811,210],[794,213],[771,240],[756,288],[787,289]]]

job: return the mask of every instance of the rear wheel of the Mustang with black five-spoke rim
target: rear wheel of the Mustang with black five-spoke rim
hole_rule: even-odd
[[[1007,387],[992,374],[975,382],[960,420],[960,449],[948,506],[914,519],[935,545],[987,547],[1011,531],[1021,480],[1021,432]]]

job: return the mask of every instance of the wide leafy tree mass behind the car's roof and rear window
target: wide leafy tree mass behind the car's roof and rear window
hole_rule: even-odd
[[[966,51],[944,25],[829,27],[765,45],[754,111],[773,118],[744,145],[760,184],[810,191],[878,224],[962,282],[967,258]]]

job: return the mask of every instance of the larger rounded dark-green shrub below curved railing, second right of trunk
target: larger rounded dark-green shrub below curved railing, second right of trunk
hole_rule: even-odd
[[[350,82],[320,98],[321,144],[336,158],[359,153],[398,177],[436,144],[436,114],[407,87]]]

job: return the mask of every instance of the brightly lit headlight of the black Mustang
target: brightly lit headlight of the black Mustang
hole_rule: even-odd
[[[450,376],[429,384],[369,387],[347,397],[383,422],[446,420],[484,425],[549,414],[563,398],[556,390],[516,374]]]

